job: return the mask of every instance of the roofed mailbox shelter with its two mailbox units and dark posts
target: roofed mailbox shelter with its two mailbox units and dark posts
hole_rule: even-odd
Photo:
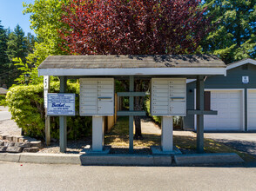
[[[49,56],[38,67],[39,76],[58,76],[60,93],[65,92],[68,78],[80,79],[79,115],[92,116],[92,151],[104,152],[103,116],[114,115],[114,80],[130,82],[129,92],[118,96],[129,96],[129,111],[118,111],[118,115],[129,115],[130,152],[133,151],[133,116],[145,115],[145,111],[133,109],[134,96],[145,92],[134,92],[134,79],[151,80],[151,114],[162,117],[162,141],[159,153],[173,152],[172,116],[197,115],[197,149],[204,148],[204,115],[216,111],[204,110],[204,78],[226,75],[226,65],[217,56]],[[186,110],[186,80],[197,79],[196,109]],[[60,150],[66,150],[66,117],[60,119]]]

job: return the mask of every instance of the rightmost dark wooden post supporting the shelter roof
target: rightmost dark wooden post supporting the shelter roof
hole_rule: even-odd
[[[196,109],[200,111],[205,110],[204,106],[204,76],[197,76],[197,91],[196,91]],[[204,115],[203,113],[197,115],[197,151],[204,153]]]

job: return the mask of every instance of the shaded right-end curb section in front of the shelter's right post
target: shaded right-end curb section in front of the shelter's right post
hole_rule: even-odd
[[[177,165],[245,162],[235,153],[174,155],[174,161]]]

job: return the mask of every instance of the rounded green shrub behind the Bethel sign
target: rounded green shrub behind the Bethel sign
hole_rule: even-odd
[[[59,92],[59,82],[51,82],[51,93]],[[68,93],[79,93],[78,83],[68,83]],[[76,110],[79,108],[76,98]],[[37,85],[19,85],[11,88],[6,96],[12,119],[25,135],[44,139],[44,88],[43,83]],[[51,117],[51,137],[59,137],[58,117]],[[77,139],[91,132],[91,117],[68,116],[67,131],[69,139]]]

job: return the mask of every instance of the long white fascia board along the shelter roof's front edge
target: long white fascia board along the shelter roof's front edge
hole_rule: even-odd
[[[224,75],[226,68],[38,69],[38,76]]]

